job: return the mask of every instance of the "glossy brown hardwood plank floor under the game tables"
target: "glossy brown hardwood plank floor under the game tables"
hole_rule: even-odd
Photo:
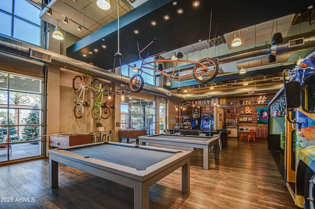
[[[2,166],[0,176],[1,209],[133,208],[133,189],[63,164],[59,169],[59,187],[51,189],[47,159]],[[2,202],[11,197],[13,202]],[[24,201],[18,202],[20,197]],[[180,169],[152,185],[150,208],[296,207],[267,149],[267,140],[256,139],[256,143],[248,143],[229,138],[220,159],[215,160],[214,151],[210,151],[209,170],[202,169],[202,150],[193,152],[189,194],[181,192]]]

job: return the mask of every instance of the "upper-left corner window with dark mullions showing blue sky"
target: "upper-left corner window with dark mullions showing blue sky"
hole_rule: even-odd
[[[1,0],[0,33],[40,46],[40,8],[29,0]]]

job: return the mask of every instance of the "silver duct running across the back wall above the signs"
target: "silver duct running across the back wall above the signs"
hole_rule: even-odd
[[[195,100],[200,98],[212,98],[212,97],[238,97],[240,95],[248,95],[249,91],[253,91],[254,94],[263,94],[263,93],[276,93],[283,86],[283,83],[277,83],[272,85],[264,86],[255,86],[255,87],[246,87],[246,88],[237,88],[237,89],[227,89],[227,90],[212,90],[209,92],[203,92],[198,94],[188,94],[182,95],[185,100]]]

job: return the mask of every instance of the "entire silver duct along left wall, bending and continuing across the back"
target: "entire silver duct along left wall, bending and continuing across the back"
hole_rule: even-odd
[[[30,52],[35,52],[34,54],[37,54],[36,56],[31,57]],[[7,37],[0,36],[0,52],[5,52],[9,54],[13,54],[16,56],[21,56],[28,59],[33,59],[39,62],[44,62],[47,64],[51,64],[57,67],[61,67],[64,69],[76,71],[79,73],[83,73],[86,75],[90,75],[96,78],[103,78],[107,80],[112,80],[117,83],[121,83],[124,85],[128,85],[129,78],[112,73],[110,71],[104,70],[102,68],[95,67],[93,65],[78,61],[76,59],[72,59],[67,56],[63,56],[61,54],[50,52],[47,50],[44,50],[39,47],[35,47],[20,41],[16,41]],[[45,57],[46,59],[43,60],[40,57]],[[283,84],[275,84],[275,85],[266,85],[261,87],[255,87],[255,93],[275,93],[278,91]],[[169,97],[172,99],[196,99],[196,98],[205,98],[205,97],[235,97],[240,94],[243,94],[243,92],[240,92],[240,89],[228,89],[228,90],[222,90],[218,91],[217,94],[211,95],[211,92],[205,92],[200,94],[189,94],[189,95],[181,95],[178,93],[174,93],[172,91],[169,91],[167,89],[154,86],[152,84],[145,83],[143,87],[144,91],[151,92],[157,95],[161,95],[164,97]]]

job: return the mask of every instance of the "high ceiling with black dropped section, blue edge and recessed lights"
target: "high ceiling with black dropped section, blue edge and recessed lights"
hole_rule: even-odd
[[[82,38],[67,48],[67,56],[109,70],[113,68],[116,52],[123,55],[122,65],[136,61],[139,58],[137,41],[141,50],[155,38],[157,40],[143,52],[143,56],[167,51],[162,56],[170,58],[172,52],[199,51],[213,46],[215,41],[227,45],[228,51],[225,53],[242,50],[256,43],[270,44],[272,34],[282,32],[284,37],[287,35],[290,26],[297,22],[295,14],[305,13],[307,15],[303,16],[302,21],[309,21],[306,12],[308,6],[312,5],[311,0],[298,3],[286,0],[271,3],[199,0],[200,5],[193,7],[193,1],[120,0],[119,50],[117,0],[111,0],[111,8],[107,11],[99,9],[96,0],[51,0],[40,16],[53,25],[59,22],[62,29]],[[46,14],[48,8],[52,8],[52,16]],[[184,9],[183,14],[177,14],[179,8]],[[170,19],[163,20],[164,15],[169,15]],[[310,15],[314,18],[314,9]],[[65,16],[70,19],[68,25],[63,24]],[[76,27],[82,25],[83,17],[84,28],[79,32]],[[156,21],[157,25],[151,26],[152,21]],[[133,33],[135,29],[139,31],[138,34]],[[236,49],[230,46],[234,34],[240,35],[243,40],[243,44]],[[209,38],[210,43],[207,41]],[[102,45],[106,48],[102,48]],[[283,57],[288,59],[288,56]],[[242,64],[235,63],[234,70],[238,71]]]

